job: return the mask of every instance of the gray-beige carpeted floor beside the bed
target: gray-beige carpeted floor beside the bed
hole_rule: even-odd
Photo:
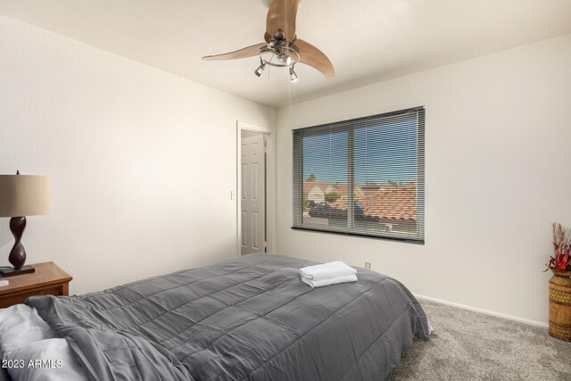
[[[547,328],[419,302],[435,335],[415,341],[387,380],[571,381],[571,343]]]

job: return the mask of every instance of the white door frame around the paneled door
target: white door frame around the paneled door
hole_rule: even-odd
[[[242,255],[242,130],[264,134],[266,150],[266,244],[268,253],[275,253],[276,242],[276,141],[270,128],[236,120],[236,255]]]

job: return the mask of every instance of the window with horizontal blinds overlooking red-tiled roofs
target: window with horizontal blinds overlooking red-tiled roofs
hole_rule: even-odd
[[[424,243],[425,109],[294,130],[294,228]]]

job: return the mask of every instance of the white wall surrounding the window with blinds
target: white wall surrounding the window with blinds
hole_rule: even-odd
[[[550,223],[571,225],[571,35],[278,110],[277,251],[548,321]],[[426,244],[292,230],[292,128],[426,105]]]

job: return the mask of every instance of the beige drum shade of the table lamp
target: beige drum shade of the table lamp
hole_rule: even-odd
[[[48,177],[0,175],[0,217],[37,216],[50,211]]]

